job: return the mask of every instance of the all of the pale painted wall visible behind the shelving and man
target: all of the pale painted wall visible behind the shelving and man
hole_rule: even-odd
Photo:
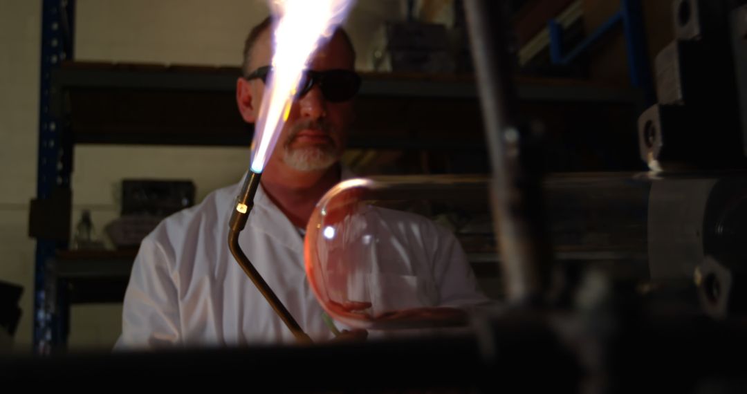
[[[369,37],[404,1],[359,0],[347,28],[358,66],[370,69]],[[238,66],[249,28],[267,15],[263,0],[78,0],[75,59]],[[0,0],[0,280],[25,287],[16,349],[31,349],[34,240],[28,201],[36,194],[40,0]],[[92,210],[96,229],[119,212],[123,178],[189,178],[197,197],[238,181],[248,149],[78,146],[73,222]],[[119,305],[72,308],[70,348],[108,348],[120,333]],[[0,349],[1,351],[1,349]]]

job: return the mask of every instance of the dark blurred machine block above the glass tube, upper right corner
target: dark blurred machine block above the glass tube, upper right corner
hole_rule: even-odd
[[[672,11],[675,40],[655,60],[658,103],[638,122],[641,158],[654,171],[743,169],[747,5],[677,0]]]

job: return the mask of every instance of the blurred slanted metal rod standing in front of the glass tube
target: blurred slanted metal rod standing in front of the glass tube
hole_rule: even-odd
[[[508,1],[465,1],[477,90],[486,125],[493,170],[492,211],[509,301],[535,304],[545,299],[551,248],[545,231],[539,176],[532,166],[530,136],[512,114],[515,92],[506,46]]]

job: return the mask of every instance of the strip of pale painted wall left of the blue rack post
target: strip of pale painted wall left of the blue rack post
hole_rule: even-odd
[[[34,240],[27,234],[37,184],[40,15],[40,1],[0,0],[0,281],[25,287],[16,332],[24,350],[31,349]]]

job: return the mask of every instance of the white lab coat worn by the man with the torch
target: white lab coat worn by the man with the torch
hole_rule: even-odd
[[[195,207],[164,219],[143,240],[125,293],[117,349],[294,341],[229,251],[228,222],[240,187],[214,191]],[[418,234],[418,227],[424,233]],[[398,259],[402,265],[394,273],[417,282],[411,290],[420,290],[414,295],[387,291],[383,297],[390,295],[393,303],[409,300],[411,307],[488,301],[449,231],[427,220],[398,228],[400,240],[418,237],[402,256],[418,257]],[[331,339],[306,281],[303,238],[261,187],[239,245],[312,340]]]

